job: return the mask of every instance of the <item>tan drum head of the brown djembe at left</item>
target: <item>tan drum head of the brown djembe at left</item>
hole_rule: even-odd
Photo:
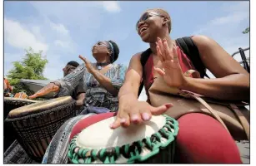
[[[23,117],[25,115],[33,115],[35,113],[42,112],[44,110],[50,110],[60,105],[68,104],[72,100],[73,99],[71,96],[64,96],[64,97],[59,97],[52,100],[43,100],[31,105],[25,105],[23,107],[19,107],[17,109],[11,110],[9,112],[8,118],[13,119],[18,117]]]

